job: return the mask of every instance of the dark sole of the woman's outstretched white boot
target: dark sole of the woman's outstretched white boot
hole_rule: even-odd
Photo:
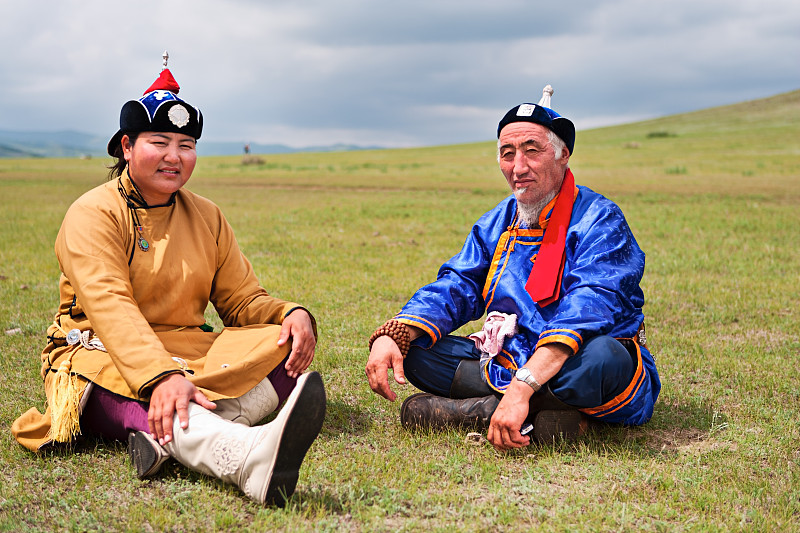
[[[325,420],[326,395],[322,378],[317,372],[304,376],[307,377],[301,376],[298,380],[297,386],[301,390],[295,396],[294,403],[283,407],[291,409],[291,412],[283,426],[264,497],[264,503],[278,507],[283,507],[294,494],[300,465]]]

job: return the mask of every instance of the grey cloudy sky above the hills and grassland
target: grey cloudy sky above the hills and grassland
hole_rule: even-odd
[[[555,88],[578,129],[800,89],[797,0],[0,0],[0,129],[111,136],[161,54],[213,141],[492,139]]]

